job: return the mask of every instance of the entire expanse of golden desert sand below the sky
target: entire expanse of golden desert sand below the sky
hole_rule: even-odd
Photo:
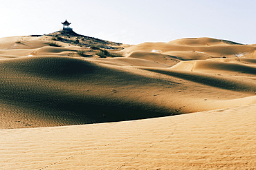
[[[1,168],[255,169],[255,50],[1,38]]]

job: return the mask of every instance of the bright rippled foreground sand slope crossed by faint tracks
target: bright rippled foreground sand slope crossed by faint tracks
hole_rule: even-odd
[[[1,169],[255,169],[256,105],[68,127],[1,129]]]

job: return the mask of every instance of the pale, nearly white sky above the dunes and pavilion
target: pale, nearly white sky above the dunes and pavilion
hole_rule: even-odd
[[[0,37],[77,34],[117,43],[210,37],[256,43],[255,0],[0,0]]]

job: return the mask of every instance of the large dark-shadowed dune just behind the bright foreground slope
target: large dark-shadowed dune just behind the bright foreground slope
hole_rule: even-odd
[[[227,107],[229,104],[219,106],[214,102],[251,96],[255,90],[246,83],[239,85],[199,74],[191,76],[185,71],[121,67],[63,56],[24,57],[0,63],[1,128],[78,125],[184,114]],[[209,79],[213,82],[205,83]],[[194,92],[191,81],[197,83]],[[214,92],[207,86],[212,87],[212,83],[217,87]],[[234,86],[237,92],[232,92]],[[228,98],[221,96],[223,93]],[[209,97],[207,103],[205,96]]]

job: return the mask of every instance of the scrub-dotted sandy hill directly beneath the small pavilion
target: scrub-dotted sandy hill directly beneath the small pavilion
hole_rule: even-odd
[[[127,46],[129,45],[80,35],[73,30],[61,30],[44,35],[1,38],[0,55],[10,55],[10,57],[58,55],[104,58],[122,56],[120,50]]]

